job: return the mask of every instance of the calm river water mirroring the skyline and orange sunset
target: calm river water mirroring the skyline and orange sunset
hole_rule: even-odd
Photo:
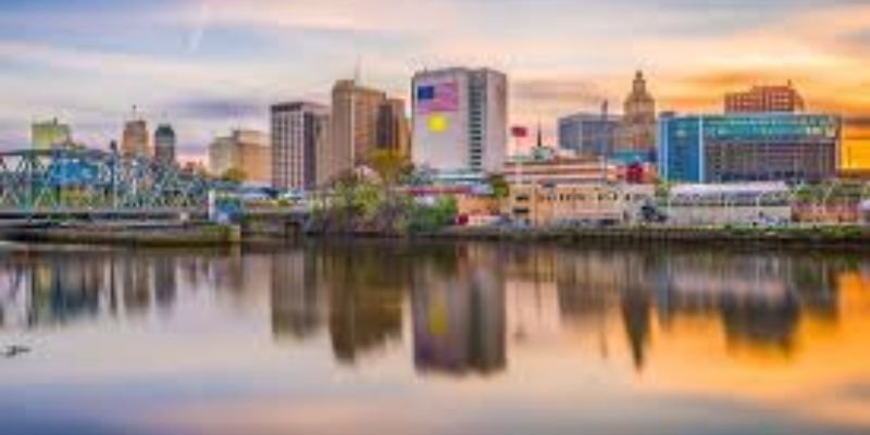
[[[870,257],[0,248],[0,433],[870,433]]]

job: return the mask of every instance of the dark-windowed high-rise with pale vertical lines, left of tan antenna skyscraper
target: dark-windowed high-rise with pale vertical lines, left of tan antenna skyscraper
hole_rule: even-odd
[[[272,187],[311,189],[325,182],[321,156],[330,138],[330,108],[313,102],[272,105]]]

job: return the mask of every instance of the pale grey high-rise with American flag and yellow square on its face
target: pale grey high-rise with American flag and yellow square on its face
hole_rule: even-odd
[[[451,67],[413,77],[418,166],[442,174],[497,173],[507,154],[508,79],[500,72]]]

